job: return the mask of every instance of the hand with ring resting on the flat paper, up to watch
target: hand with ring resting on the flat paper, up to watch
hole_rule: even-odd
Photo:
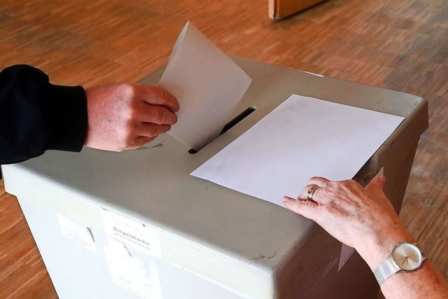
[[[297,199],[283,204],[312,219],[347,246],[354,247],[374,270],[398,241],[413,241],[384,195],[384,176],[363,188],[356,181],[310,179]]]

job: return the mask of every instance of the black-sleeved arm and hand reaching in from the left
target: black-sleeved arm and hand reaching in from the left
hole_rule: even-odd
[[[0,164],[48,149],[139,147],[176,123],[176,98],[148,85],[60,86],[27,65],[0,73]]]

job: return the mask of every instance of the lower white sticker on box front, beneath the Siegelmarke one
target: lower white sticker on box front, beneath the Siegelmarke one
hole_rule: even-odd
[[[155,260],[148,263],[131,256],[124,244],[111,242],[104,246],[112,281],[146,299],[162,299],[162,289]]]

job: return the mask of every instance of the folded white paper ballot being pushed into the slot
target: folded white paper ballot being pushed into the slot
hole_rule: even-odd
[[[160,80],[181,105],[173,137],[199,151],[216,139],[252,80],[190,22]]]

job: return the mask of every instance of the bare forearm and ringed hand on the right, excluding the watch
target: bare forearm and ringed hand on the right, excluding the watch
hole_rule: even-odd
[[[288,209],[316,221],[340,242],[358,251],[374,271],[399,242],[415,242],[384,195],[379,176],[363,188],[355,181],[332,182],[312,178],[296,199],[283,198]],[[318,187],[307,200],[311,187]],[[386,279],[381,291],[387,299],[447,298],[448,285],[430,260],[414,272],[398,272]]]

